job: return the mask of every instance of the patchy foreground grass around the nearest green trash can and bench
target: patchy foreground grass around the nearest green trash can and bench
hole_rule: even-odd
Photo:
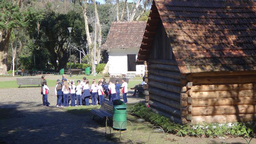
[[[127,111],[129,111],[134,104],[126,104],[127,106]],[[67,107],[63,109],[65,112],[68,112],[70,114],[75,114],[81,116],[81,114],[88,115],[90,113],[91,109],[98,109],[100,106],[79,106],[79,107]],[[86,114],[87,113],[87,114]],[[122,143],[130,142],[135,140],[136,143],[140,142],[147,142],[148,141],[148,136],[150,136],[150,142],[152,143],[158,143],[161,142],[163,144],[167,144],[170,141],[164,141],[164,134],[163,132],[157,131],[159,128],[153,128],[154,126],[150,124],[149,122],[138,122],[139,118],[132,116],[130,114],[127,114],[127,130],[121,132],[121,141]],[[102,125],[104,123],[104,120],[98,121],[99,125],[104,127]],[[153,128],[153,129],[152,129]],[[109,128],[107,128],[107,134],[109,134]],[[117,130],[111,130],[112,137],[111,139],[119,142],[119,136],[120,136],[120,131]],[[166,137],[168,138],[168,136]]]

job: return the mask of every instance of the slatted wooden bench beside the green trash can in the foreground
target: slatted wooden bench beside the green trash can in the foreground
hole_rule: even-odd
[[[113,102],[104,99],[100,109],[92,109],[91,110],[93,119],[98,116],[99,118],[112,118],[113,117]]]

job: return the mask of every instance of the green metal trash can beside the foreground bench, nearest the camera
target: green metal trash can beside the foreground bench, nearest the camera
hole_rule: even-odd
[[[121,100],[113,101],[113,128],[114,130],[126,130],[126,104]]]

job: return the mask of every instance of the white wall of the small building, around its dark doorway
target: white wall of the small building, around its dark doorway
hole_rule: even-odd
[[[128,48],[127,50],[122,49],[110,49],[108,51],[108,62],[110,75],[120,75],[127,73],[144,74],[144,65],[136,65],[136,72],[127,71],[127,54],[136,54],[138,56],[138,48]]]

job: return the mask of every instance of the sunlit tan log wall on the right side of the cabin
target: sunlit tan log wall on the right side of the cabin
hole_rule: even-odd
[[[248,76],[244,77],[248,82]],[[256,83],[243,84],[238,80],[236,84],[229,84],[234,80],[226,81],[228,84],[192,86],[192,124],[256,120]]]

